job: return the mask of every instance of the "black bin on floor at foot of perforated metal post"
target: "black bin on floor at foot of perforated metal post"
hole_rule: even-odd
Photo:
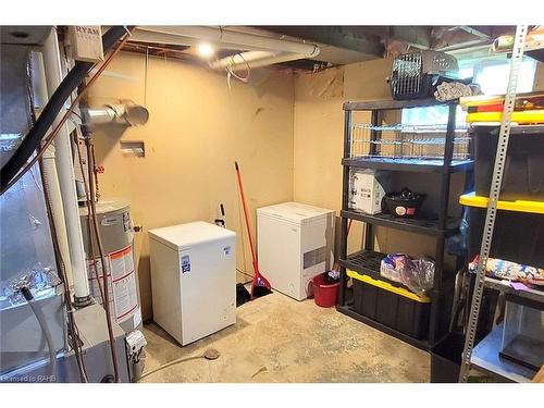
[[[457,383],[461,368],[465,336],[448,333],[431,348],[431,382]]]

